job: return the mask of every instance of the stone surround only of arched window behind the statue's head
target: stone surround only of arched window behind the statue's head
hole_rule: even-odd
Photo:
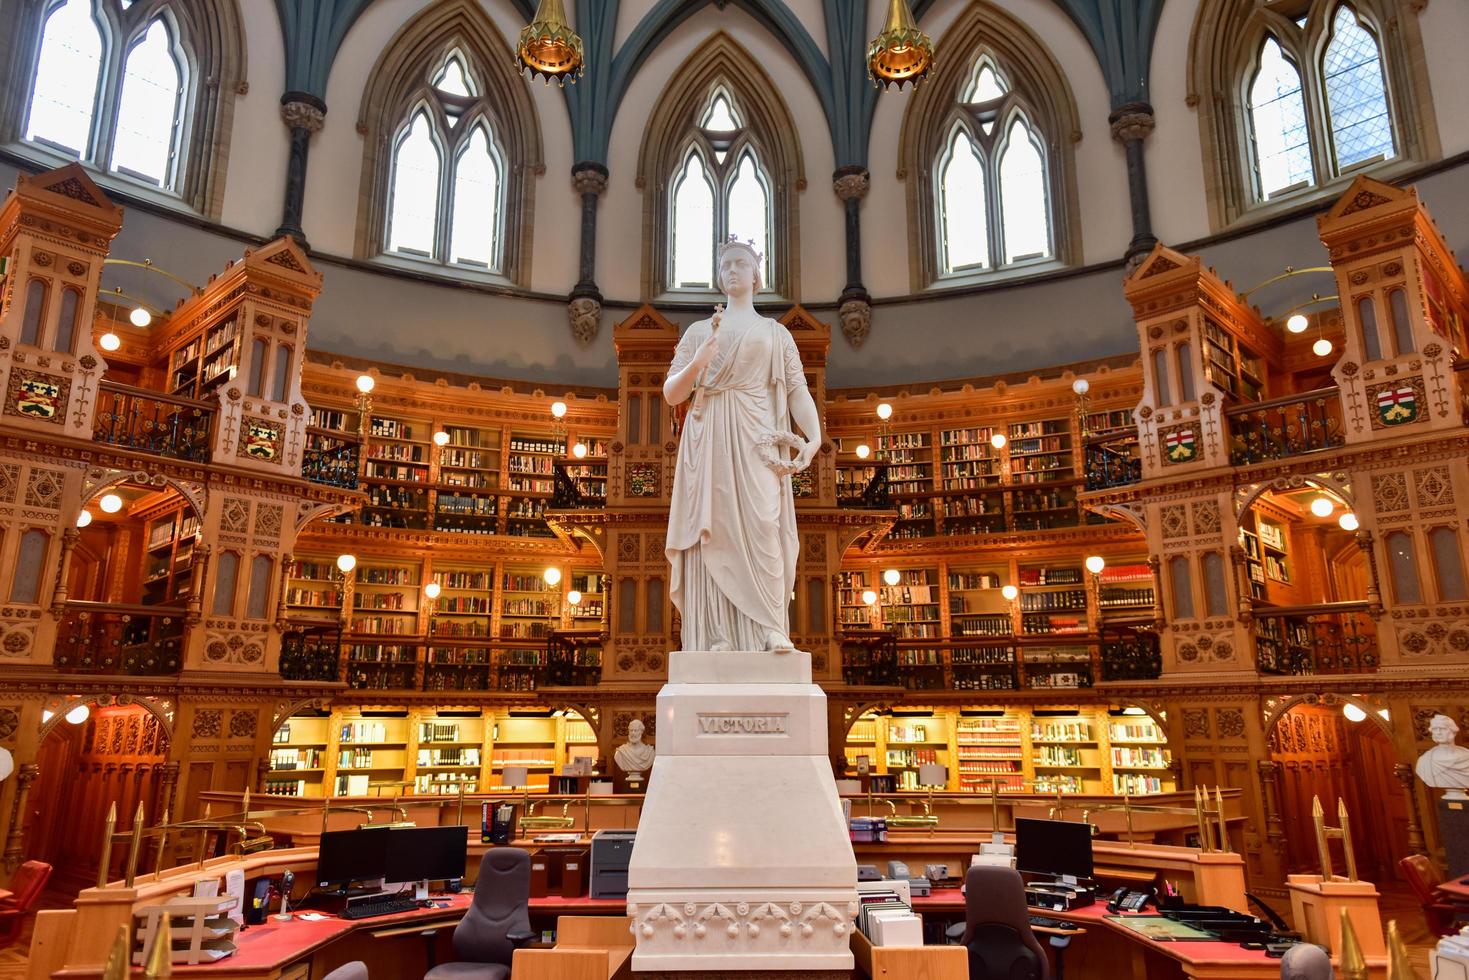
[[[648,116],[638,153],[638,187],[643,195],[642,298],[652,301],[668,288],[668,182],[683,162],[683,148],[699,122],[708,96],[724,88],[742,113],[749,144],[770,173],[774,263],[767,289],[799,303],[801,207],[805,159],[801,137],[780,88],[739,41],[720,31],[704,41],[673,72]]]

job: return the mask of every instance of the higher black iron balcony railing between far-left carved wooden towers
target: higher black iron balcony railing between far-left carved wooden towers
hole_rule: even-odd
[[[209,463],[214,410],[203,401],[103,381],[93,439],[107,445]]]

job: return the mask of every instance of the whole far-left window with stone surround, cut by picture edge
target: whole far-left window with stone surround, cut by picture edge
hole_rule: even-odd
[[[40,0],[18,38],[3,138],[120,173],[217,217],[244,73],[237,0]],[[24,96],[21,96],[24,93]]]

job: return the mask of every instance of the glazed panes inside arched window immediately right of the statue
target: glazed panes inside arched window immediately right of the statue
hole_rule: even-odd
[[[1053,256],[1046,141],[984,51],[959,91],[933,167],[945,275]]]

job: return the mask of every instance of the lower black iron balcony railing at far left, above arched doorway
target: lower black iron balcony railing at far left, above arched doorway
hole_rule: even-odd
[[[187,610],[178,605],[68,602],[56,633],[56,669],[98,674],[176,674]]]

